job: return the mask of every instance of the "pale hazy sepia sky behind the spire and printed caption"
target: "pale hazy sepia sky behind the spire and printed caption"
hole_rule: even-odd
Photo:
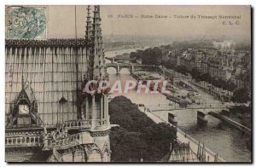
[[[87,6],[49,6],[48,37],[76,37],[75,13],[77,37],[84,37],[86,8]],[[132,18],[118,18],[119,14],[129,14]],[[153,18],[141,18],[143,14],[152,15]],[[167,18],[154,18],[155,14],[167,15]],[[192,14],[195,19],[190,19]],[[198,19],[199,14],[217,17],[235,15],[241,16],[241,19]],[[189,19],[177,19],[174,15],[188,16]],[[103,36],[127,34],[164,37],[251,37],[250,6],[101,6],[101,17]],[[230,21],[233,25],[229,25]]]

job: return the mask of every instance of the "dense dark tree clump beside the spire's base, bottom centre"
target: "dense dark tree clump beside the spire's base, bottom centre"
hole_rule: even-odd
[[[156,162],[177,145],[177,130],[169,124],[155,124],[125,96],[109,102],[111,124],[119,124],[110,134],[113,162]]]

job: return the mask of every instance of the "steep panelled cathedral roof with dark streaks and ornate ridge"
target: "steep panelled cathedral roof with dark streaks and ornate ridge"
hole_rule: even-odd
[[[38,115],[44,120],[45,125],[61,124],[76,119],[77,95],[84,74],[88,72],[87,46],[84,43],[84,40],[76,39],[7,39],[6,114],[10,113],[10,103],[20,95],[23,76],[30,85],[25,86],[24,91],[31,101],[37,100]],[[60,103],[62,97],[67,100],[66,103]]]

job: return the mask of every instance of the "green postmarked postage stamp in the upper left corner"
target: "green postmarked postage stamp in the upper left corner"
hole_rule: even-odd
[[[6,37],[45,39],[47,37],[47,7],[8,7]]]

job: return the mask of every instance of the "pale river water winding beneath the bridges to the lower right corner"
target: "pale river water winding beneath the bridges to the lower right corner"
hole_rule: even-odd
[[[106,52],[105,55],[113,57],[114,55],[121,55],[124,53],[130,53],[136,49],[122,49]],[[109,62],[106,60],[107,63]],[[116,80],[125,82],[126,80],[136,80],[132,78],[130,72],[127,69],[121,70],[119,75],[115,74],[115,69],[108,68],[109,80],[113,83]],[[119,94],[113,92],[112,97]],[[125,94],[134,103],[141,103],[144,105],[159,105],[169,104],[170,101],[166,100],[166,96],[162,94],[137,94],[135,89]],[[184,111],[172,111],[177,114],[178,128],[183,130],[188,135],[191,135],[195,140],[205,143],[206,147],[211,149],[214,153],[218,153],[221,158],[224,158],[227,162],[249,162],[251,161],[251,152],[247,149],[248,136],[241,135],[241,132],[230,129],[229,126],[221,123],[217,118],[208,116],[207,126],[201,127],[197,125],[196,111],[187,110]],[[167,121],[168,112],[155,112],[161,118]]]

